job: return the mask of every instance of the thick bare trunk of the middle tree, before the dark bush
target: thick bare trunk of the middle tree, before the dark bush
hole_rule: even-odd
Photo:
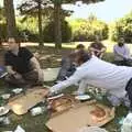
[[[55,47],[62,48],[62,22],[61,22],[61,9],[59,2],[54,3],[54,25],[55,25]]]

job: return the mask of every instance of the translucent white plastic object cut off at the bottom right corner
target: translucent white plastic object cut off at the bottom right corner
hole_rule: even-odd
[[[121,132],[132,132],[132,113],[129,113],[127,118],[123,120]]]

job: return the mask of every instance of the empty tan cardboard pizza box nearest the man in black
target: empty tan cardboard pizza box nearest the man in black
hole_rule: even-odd
[[[25,94],[11,98],[8,106],[15,114],[24,114],[32,107],[42,102],[46,95],[47,89],[34,87],[33,89],[28,89]]]

